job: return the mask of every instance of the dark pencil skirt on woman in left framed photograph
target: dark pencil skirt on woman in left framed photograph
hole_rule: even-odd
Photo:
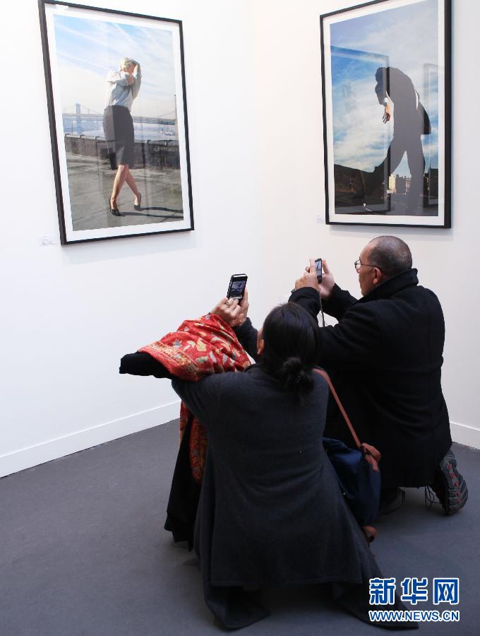
[[[112,170],[116,170],[119,163],[133,167],[133,119],[128,108],[107,106],[103,113],[103,131]]]

